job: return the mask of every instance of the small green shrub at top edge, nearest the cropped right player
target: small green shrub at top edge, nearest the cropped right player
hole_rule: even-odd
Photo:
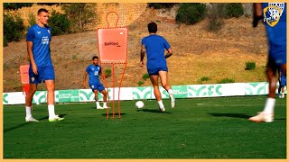
[[[225,4],[225,17],[232,18],[232,17],[240,17],[244,14],[244,8],[241,3],[229,3]]]

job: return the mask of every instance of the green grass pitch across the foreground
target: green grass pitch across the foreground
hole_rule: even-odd
[[[286,158],[286,99],[276,99],[274,122],[247,121],[265,99],[177,99],[174,109],[163,100],[167,112],[155,101],[143,109],[123,101],[120,120],[107,120],[95,103],[59,103],[59,122],[39,104],[33,123],[24,121],[23,105],[5,105],[4,158]]]

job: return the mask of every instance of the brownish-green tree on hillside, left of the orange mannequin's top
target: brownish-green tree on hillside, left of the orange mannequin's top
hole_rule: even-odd
[[[92,23],[97,17],[96,4],[63,4],[62,9],[70,20],[71,31],[85,31],[84,26]]]

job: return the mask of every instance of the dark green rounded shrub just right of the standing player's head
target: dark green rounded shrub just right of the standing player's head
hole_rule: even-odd
[[[55,10],[51,13],[49,25],[51,26],[51,35],[61,35],[70,32],[70,21],[66,14],[57,13]]]

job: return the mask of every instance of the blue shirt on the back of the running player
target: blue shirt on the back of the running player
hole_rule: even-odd
[[[162,36],[151,34],[143,38],[142,45],[144,45],[146,50],[147,68],[166,67],[164,49],[171,48],[167,40],[165,40]]]

